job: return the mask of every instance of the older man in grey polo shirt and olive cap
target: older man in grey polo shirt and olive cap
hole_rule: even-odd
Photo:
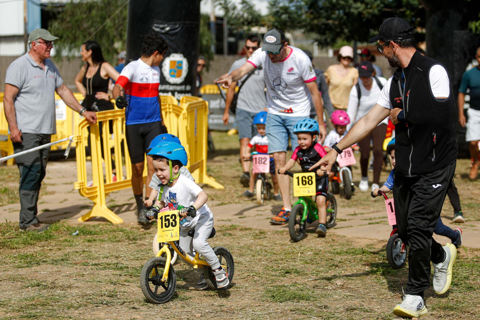
[[[15,153],[49,143],[51,135],[57,133],[55,91],[87,121],[96,122],[95,112],[82,108],[48,59],[57,39],[45,29],[35,29],[28,37],[30,50],[7,69],[3,107]],[[50,148],[44,148],[16,157],[22,230],[42,232],[48,228],[48,224],[38,221],[36,205],[49,153]]]

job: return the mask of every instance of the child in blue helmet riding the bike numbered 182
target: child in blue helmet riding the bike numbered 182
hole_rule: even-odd
[[[250,159],[246,155],[250,155],[250,151],[252,150],[253,147],[255,147],[256,151],[261,154],[268,154],[268,138],[265,135],[265,124],[267,122],[267,112],[262,111],[258,112],[255,117],[253,118],[253,124],[256,124],[257,126],[257,132],[258,134],[252,137],[250,140],[250,143],[248,144],[247,147],[245,147],[245,158],[244,160]],[[258,173],[251,174],[250,175],[250,183],[249,183],[249,189],[246,190],[242,196],[245,197],[253,197],[253,185],[255,183],[255,179],[257,177]],[[276,177],[275,173],[275,161],[273,160],[273,156],[270,155],[270,175],[272,176],[272,182],[273,182],[273,198],[275,200],[280,201],[282,199],[282,196],[280,195],[280,189],[278,186],[278,179]]]

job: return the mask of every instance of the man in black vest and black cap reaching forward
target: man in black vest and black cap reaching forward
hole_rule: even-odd
[[[455,172],[455,101],[445,67],[415,50],[413,28],[406,20],[386,19],[379,35],[370,39],[370,43],[376,41],[396,72],[372,110],[310,170],[321,166],[329,173],[343,149],[369,135],[390,115],[396,133],[396,223],[400,238],[409,246],[406,292],[393,312],[419,317],[427,313],[423,292],[430,287],[430,261],[433,289],[441,295],[450,287],[456,258],[455,246],[442,247],[432,238]]]

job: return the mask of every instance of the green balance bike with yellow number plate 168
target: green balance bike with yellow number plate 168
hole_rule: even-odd
[[[278,172],[280,174],[280,172]],[[293,173],[286,171],[293,178]],[[325,227],[331,228],[335,225],[337,204],[335,196],[328,193],[326,199],[327,223]],[[293,242],[298,242],[305,237],[307,222],[312,223],[318,220],[318,209],[312,197],[299,197],[290,211],[288,219],[288,232]]]

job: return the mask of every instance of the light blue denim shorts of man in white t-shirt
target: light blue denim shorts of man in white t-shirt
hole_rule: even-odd
[[[308,116],[292,117],[278,114],[267,114],[267,123],[265,125],[265,134],[268,138],[268,153],[287,152],[288,137],[292,144],[292,149],[298,147],[297,135],[293,133],[293,126],[301,119]]]

